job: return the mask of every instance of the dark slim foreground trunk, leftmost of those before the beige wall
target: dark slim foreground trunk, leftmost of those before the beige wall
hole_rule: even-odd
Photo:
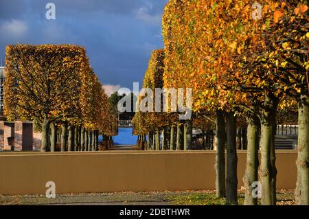
[[[225,197],[225,117],[217,111],[216,118],[216,196]]]

